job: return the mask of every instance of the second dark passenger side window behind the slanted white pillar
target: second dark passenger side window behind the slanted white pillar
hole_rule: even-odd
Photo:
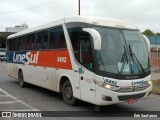
[[[37,33],[36,48],[48,49],[48,31],[42,31]]]

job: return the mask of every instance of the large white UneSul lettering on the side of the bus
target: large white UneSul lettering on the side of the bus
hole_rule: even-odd
[[[18,63],[30,64],[38,62],[39,52],[31,53],[27,52],[25,54],[13,53],[13,61]]]

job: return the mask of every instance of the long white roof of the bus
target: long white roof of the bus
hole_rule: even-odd
[[[48,24],[44,24],[44,25],[41,25],[35,28],[30,28],[30,29],[20,31],[16,34],[12,34],[8,36],[8,39],[17,37],[17,36],[21,36],[24,34],[32,33],[35,31],[47,29],[50,27],[54,27],[54,26],[57,26],[63,23],[71,23],[71,22],[82,22],[82,23],[88,23],[88,24],[99,25],[99,26],[115,27],[115,28],[138,29],[135,25],[128,23],[126,21],[122,21],[122,20],[110,19],[110,18],[105,18],[105,17],[76,16],[76,17],[61,18],[61,19],[58,19]]]

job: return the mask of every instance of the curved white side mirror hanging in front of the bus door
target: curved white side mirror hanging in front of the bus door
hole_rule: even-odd
[[[88,32],[93,37],[94,42],[94,49],[95,50],[101,50],[101,36],[98,31],[91,29],[91,28],[83,28],[82,29],[85,32]]]

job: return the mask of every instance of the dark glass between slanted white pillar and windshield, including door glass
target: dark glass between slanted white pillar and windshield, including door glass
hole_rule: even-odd
[[[93,70],[90,35],[87,32],[82,31],[81,27],[69,28],[68,32],[76,60],[83,66]]]

